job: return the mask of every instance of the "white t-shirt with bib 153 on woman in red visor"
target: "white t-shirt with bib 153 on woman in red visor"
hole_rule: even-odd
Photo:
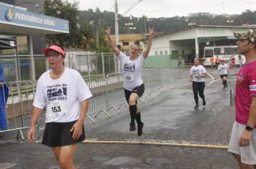
[[[52,79],[50,70],[42,74],[33,105],[40,109],[46,107],[45,122],[72,122],[78,120],[81,102],[90,97],[81,74],[65,67],[59,79]]]

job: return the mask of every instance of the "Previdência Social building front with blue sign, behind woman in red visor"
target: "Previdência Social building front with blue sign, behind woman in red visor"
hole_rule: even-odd
[[[47,64],[42,62],[45,58],[41,51],[46,46],[46,34],[69,33],[67,20],[46,16],[42,11],[43,0],[0,0],[0,40],[1,36],[15,37],[15,40],[5,39],[6,45],[0,48],[1,64],[8,82],[37,79]]]

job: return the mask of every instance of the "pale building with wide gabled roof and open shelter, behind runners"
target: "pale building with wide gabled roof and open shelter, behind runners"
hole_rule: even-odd
[[[150,56],[168,54],[171,59],[183,56],[185,62],[193,57],[203,57],[204,47],[235,45],[234,32],[247,32],[255,26],[209,26],[197,25],[190,29],[153,38]]]

